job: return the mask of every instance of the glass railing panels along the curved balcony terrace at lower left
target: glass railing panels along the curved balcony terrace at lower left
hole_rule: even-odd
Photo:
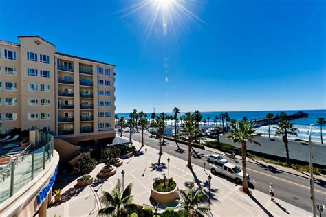
[[[15,153],[10,163],[1,166],[0,204],[16,194],[45,169],[53,157],[53,139],[53,135],[41,133],[36,144],[25,146],[26,148]],[[46,141],[47,143],[42,146]]]

